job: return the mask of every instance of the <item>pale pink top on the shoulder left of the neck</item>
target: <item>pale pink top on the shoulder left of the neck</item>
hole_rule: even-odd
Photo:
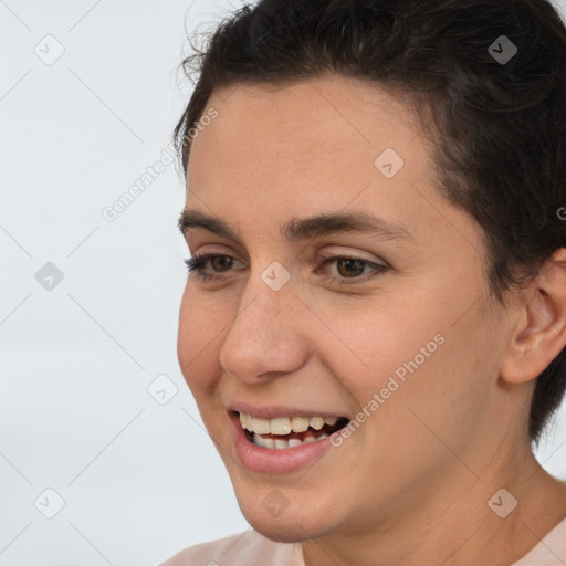
[[[190,546],[159,566],[304,566],[300,544],[269,541],[250,530]]]

